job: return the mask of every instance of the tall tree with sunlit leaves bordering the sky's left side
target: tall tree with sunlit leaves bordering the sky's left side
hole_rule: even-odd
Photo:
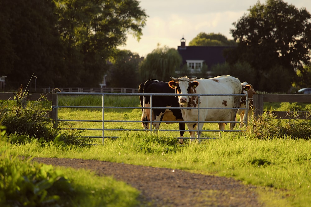
[[[58,30],[66,56],[66,76],[75,74],[71,85],[97,86],[107,70],[107,59],[123,45],[127,32],[137,40],[146,24],[145,11],[136,0],[54,0]]]

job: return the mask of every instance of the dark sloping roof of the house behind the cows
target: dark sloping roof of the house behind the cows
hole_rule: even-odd
[[[183,58],[182,65],[186,64],[186,60],[204,60],[210,70],[212,65],[225,62],[223,50],[232,47],[233,46],[178,46],[177,50]]]

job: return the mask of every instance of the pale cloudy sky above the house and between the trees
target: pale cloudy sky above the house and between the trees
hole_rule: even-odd
[[[168,46],[177,49],[180,39],[186,39],[186,46],[200,32],[220,33],[233,39],[232,23],[248,14],[258,0],[138,0],[147,18],[140,41],[128,34],[126,46],[119,49],[130,50],[146,57],[157,48]],[[310,0],[283,0],[300,9],[305,7],[311,13]],[[260,0],[261,4],[266,0]]]

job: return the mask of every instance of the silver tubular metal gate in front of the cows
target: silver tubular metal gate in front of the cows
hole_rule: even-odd
[[[105,131],[152,131],[152,127],[150,129],[137,129],[137,128],[132,128],[132,129],[118,129],[118,128],[105,128],[105,123],[108,122],[114,122],[114,123],[127,123],[127,122],[132,122],[132,123],[142,123],[141,120],[105,120],[105,112],[104,109],[150,109],[151,113],[153,108],[157,109],[172,109],[172,107],[153,107],[152,106],[152,96],[176,96],[176,94],[169,94],[169,93],[157,93],[157,94],[151,94],[151,93],[95,93],[95,92],[57,92],[57,95],[86,95],[86,96],[101,96],[102,97],[102,106],[58,106],[58,98],[56,100],[56,105],[53,106],[53,110],[58,110],[59,108],[84,108],[84,109],[100,109],[102,112],[102,119],[101,120],[90,120],[90,119],[57,119],[55,120],[55,125],[57,126],[59,122],[99,122],[101,123],[101,128],[60,128],[60,129],[76,129],[76,130],[96,130],[96,131],[102,131],[101,136],[84,136],[84,137],[90,137],[90,138],[102,138],[102,142],[104,143],[104,138],[118,138],[115,136],[105,136]],[[185,96],[197,96],[200,98],[201,96],[239,96],[239,97],[247,97],[247,92],[245,94],[183,94]],[[150,96],[150,107],[130,107],[130,106],[104,106],[104,99],[107,96],[137,96],[137,100],[139,100],[139,96]],[[200,110],[202,109],[224,109],[224,108],[213,108],[213,107],[200,107],[199,102],[197,104],[197,107],[191,107],[191,109],[197,109],[198,110],[198,117],[197,117],[197,126],[199,123],[240,123],[238,121],[199,121],[200,117]],[[248,106],[248,98],[246,98],[246,106]],[[174,109],[187,109],[186,107],[176,107]],[[248,107],[246,108],[225,108],[228,110],[232,109],[241,109],[245,110],[245,116],[246,116],[246,122],[244,124],[247,126],[248,124]],[[58,114],[56,112],[56,114]],[[152,116],[151,116],[152,117]],[[149,121],[148,121],[149,122]],[[152,121],[150,120],[150,126],[152,126],[152,123],[159,122],[159,123],[176,123],[176,121]],[[180,121],[180,123],[193,123],[194,121]],[[197,138],[199,139],[216,139],[215,137],[200,137],[200,132],[220,132],[220,130],[199,130],[199,127],[197,127],[196,130],[165,130],[165,129],[159,129],[158,131],[195,131],[197,132]],[[241,132],[243,130],[224,130],[222,132]],[[174,137],[176,139],[183,138],[183,139],[190,139],[191,137]]]

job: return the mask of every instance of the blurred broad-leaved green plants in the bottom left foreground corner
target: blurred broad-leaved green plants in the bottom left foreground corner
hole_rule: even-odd
[[[70,199],[74,191],[70,181],[52,165],[20,160],[0,149],[1,206],[60,206],[60,197]]]

